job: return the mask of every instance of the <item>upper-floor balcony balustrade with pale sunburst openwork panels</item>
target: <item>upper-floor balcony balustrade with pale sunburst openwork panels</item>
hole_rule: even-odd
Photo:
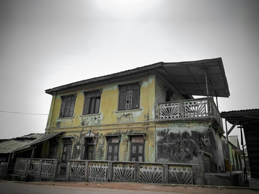
[[[223,130],[222,119],[212,97],[155,104],[155,120],[215,120]]]

